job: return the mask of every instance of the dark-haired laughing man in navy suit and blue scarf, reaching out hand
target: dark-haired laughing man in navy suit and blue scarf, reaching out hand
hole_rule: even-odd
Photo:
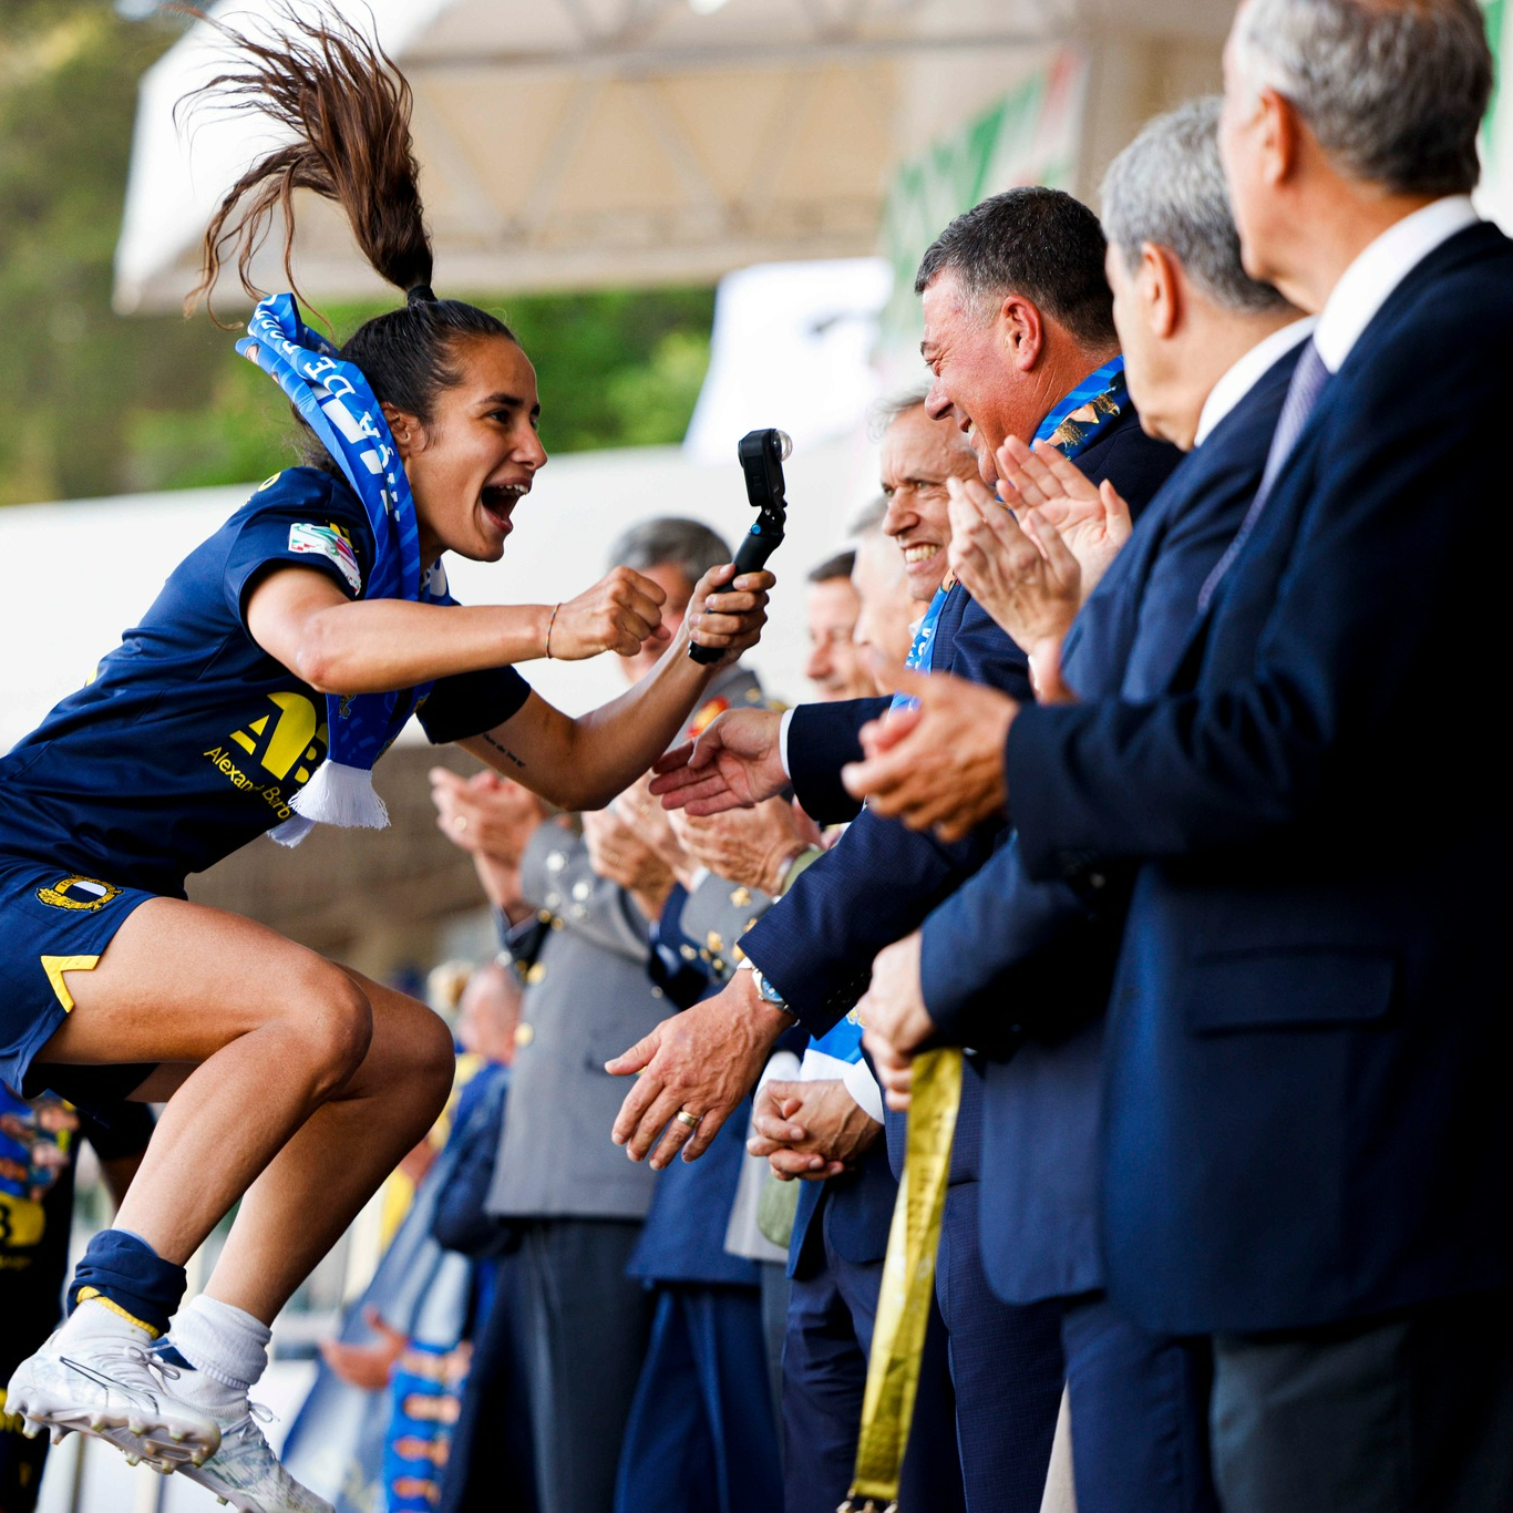
[[[1118,472],[1141,507],[1177,452],[1145,437],[1129,404],[1103,251],[1091,212],[1055,191],[1011,191],[958,218],[926,254],[917,281],[924,295],[923,350],[937,375],[927,409],[941,419],[950,416],[968,437],[983,478],[993,477],[994,451],[1005,436],[1041,436],[1077,454],[1094,478]],[[947,396],[947,375],[961,378],[959,402],[956,389]],[[1024,654],[959,586],[947,586],[932,604],[915,655],[932,670],[1020,696],[1029,691]],[[840,719],[834,711],[828,707],[819,711],[820,720],[805,723],[796,717],[787,740],[799,799],[823,819],[837,817],[837,809],[823,793],[811,791],[797,753],[802,749],[811,758],[822,744],[823,760],[814,766],[834,784],[841,763],[858,750],[859,720],[876,713],[852,710],[847,723],[846,711]],[[812,728],[822,720],[831,734],[817,741]],[[775,722],[763,728],[776,746]],[[719,737],[705,737],[701,749],[731,750]],[[694,772],[690,791],[699,791],[699,778]],[[773,775],[769,764],[763,779],[775,788],[785,776],[781,769]],[[723,1083],[746,1070],[731,1055],[732,1023],[744,1020],[735,1032],[744,1035],[776,1005],[791,1009],[811,1033],[825,1033],[856,1002],[876,952],[918,924],[990,849],[991,837],[943,847],[861,816],[743,937],[741,949],[761,976],[760,996],[756,974],[746,973],[747,982],[723,996],[728,1002],[719,1005],[707,1033],[685,1015],[611,1064],[620,1071],[649,1064],[626,1098],[617,1136],[629,1141],[632,1154],[645,1151],[678,1108],[717,1126],[726,1112]],[[670,1089],[678,1098],[663,1112]],[[958,1123],[938,1297],[950,1330],[967,1504],[1033,1510],[1061,1398],[1059,1310],[1005,1307],[988,1291],[976,1235],[979,1092],[973,1074]],[[669,1133],[658,1159],[679,1144]],[[704,1148],[704,1139],[701,1130],[690,1142],[691,1154]]]

